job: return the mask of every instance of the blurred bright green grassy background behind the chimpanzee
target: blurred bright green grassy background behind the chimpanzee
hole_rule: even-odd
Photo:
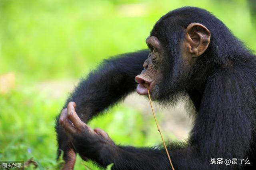
[[[182,6],[209,10],[256,50],[254,0],[0,0],[0,160],[53,168],[54,119],[79,78],[102,59],[145,49],[154,23]],[[124,104],[90,126],[124,145],[161,141],[151,115]]]

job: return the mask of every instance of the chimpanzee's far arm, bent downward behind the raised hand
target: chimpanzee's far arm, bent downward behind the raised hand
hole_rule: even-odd
[[[98,69],[81,80],[68,98],[64,108],[68,102],[76,102],[78,116],[82,121],[87,122],[93,116],[115,104],[135,90],[134,78],[142,71],[148,53],[148,50],[143,50],[105,60]],[[58,119],[59,117],[56,120],[58,149],[64,151],[64,160],[66,161],[64,169],[72,169],[76,153],[63,128],[59,125]],[[59,154],[60,152],[58,152],[58,156]]]

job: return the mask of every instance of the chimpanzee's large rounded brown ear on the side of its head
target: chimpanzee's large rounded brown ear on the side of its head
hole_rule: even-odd
[[[188,52],[192,57],[198,57],[206,51],[210,43],[211,33],[201,23],[190,23],[186,28]]]

